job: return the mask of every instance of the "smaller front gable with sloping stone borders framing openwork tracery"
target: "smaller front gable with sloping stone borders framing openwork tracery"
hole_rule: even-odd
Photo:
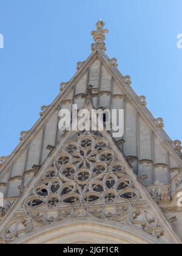
[[[2,220],[1,243],[84,216],[133,227],[157,243],[180,243],[106,130],[64,133]]]

